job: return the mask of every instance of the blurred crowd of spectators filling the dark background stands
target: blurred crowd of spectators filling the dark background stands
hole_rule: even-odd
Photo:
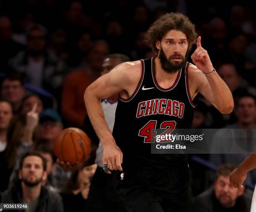
[[[72,211],[74,205],[79,208],[75,211],[85,211],[97,165],[92,161],[74,172],[63,170],[56,163],[54,140],[66,127],[79,127],[91,134],[85,89],[118,64],[112,61],[104,67],[110,54],[123,54],[131,61],[156,56],[144,42],[145,34],[166,12],[182,12],[195,23],[202,47],[235,101],[231,114],[220,114],[198,95],[192,128],[251,129],[253,134],[255,8],[256,3],[249,0],[0,0],[0,191],[9,190],[8,198],[15,194],[16,201],[33,202],[32,211],[37,211],[38,202],[44,204],[43,194],[52,204],[43,211]],[[97,140],[95,135],[91,138]],[[99,142],[93,143],[95,150]],[[197,156],[220,167],[218,172],[209,170],[189,156],[197,211],[205,211],[200,210],[202,202],[211,202],[209,211],[231,207],[239,210],[230,211],[249,211],[250,190],[233,190],[228,180],[248,155]],[[26,193],[27,187],[36,187],[30,183],[31,169],[39,182],[35,185],[40,185],[33,190],[40,198],[33,201]],[[255,185],[255,171],[247,182]]]

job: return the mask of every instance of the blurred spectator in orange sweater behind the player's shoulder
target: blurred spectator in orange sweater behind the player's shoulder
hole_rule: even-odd
[[[67,75],[62,90],[61,109],[67,126],[82,127],[87,116],[83,101],[85,89],[100,76],[102,64],[109,52],[108,44],[99,40],[92,46],[85,69]]]

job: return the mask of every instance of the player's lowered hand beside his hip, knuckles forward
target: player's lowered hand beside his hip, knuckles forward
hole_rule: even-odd
[[[120,170],[123,171],[123,152],[120,148],[112,143],[104,146],[103,149],[103,164],[108,164],[109,170]],[[107,172],[111,174],[110,171]]]

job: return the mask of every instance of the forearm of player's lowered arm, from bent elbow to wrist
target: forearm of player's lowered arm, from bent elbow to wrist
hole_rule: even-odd
[[[98,138],[101,140],[102,145],[105,146],[111,142],[115,143],[112,133],[105,121],[100,99],[87,89],[84,93],[84,102],[92,126]]]

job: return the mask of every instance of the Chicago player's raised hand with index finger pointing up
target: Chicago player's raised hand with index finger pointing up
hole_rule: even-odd
[[[207,51],[201,46],[201,36],[198,36],[197,38],[197,49],[191,55],[191,59],[202,72],[210,73],[213,71],[210,57]]]

